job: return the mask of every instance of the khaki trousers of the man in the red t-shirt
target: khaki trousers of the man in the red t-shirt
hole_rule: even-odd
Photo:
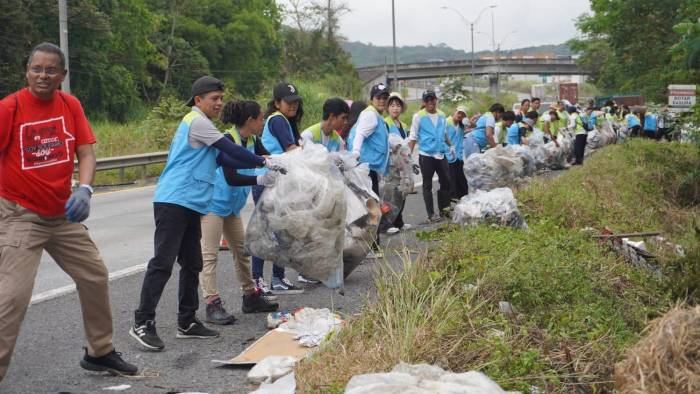
[[[0,198],[0,380],[10,365],[44,249],[75,281],[88,354],[101,357],[114,349],[107,267],[86,227]]]

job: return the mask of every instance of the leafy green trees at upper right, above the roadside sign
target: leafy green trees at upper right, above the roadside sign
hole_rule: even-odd
[[[591,0],[591,10],[577,22],[583,37],[570,44],[582,51],[581,64],[598,88],[664,102],[667,85],[700,83],[689,61],[692,45],[683,44],[679,29],[698,20],[700,1]]]

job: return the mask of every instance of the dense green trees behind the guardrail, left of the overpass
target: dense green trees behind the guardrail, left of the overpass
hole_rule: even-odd
[[[57,1],[0,0],[0,96],[24,85],[29,49],[58,43]],[[320,6],[310,9],[328,13]],[[214,74],[254,96],[299,72],[355,76],[327,23],[282,25],[274,0],[70,0],[71,87],[89,114],[123,120],[164,95],[184,98],[192,81]],[[332,20],[332,23],[337,23]],[[317,44],[322,41],[325,57]],[[302,67],[300,67],[300,65]]]

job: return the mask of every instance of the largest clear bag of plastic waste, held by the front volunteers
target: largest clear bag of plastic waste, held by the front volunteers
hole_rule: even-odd
[[[260,196],[248,223],[246,250],[340,288],[347,213],[342,175],[320,144],[279,160],[287,174]]]

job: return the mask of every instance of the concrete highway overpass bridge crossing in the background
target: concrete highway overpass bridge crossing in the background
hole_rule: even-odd
[[[588,72],[576,64],[573,59],[514,59],[502,58],[475,59],[474,74],[488,75],[492,88],[498,86],[498,76],[505,75],[587,75]],[[452,60],[397,65],[399,81],[415,79],[435,79],[449,76],[471,75],[471,60]],[[394,78],[393,65],[361,67],[357,69],[365,86],[374,83],[389,83]]]

